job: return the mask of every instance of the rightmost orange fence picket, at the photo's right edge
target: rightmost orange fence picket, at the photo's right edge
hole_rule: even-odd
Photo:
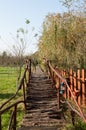
[[[85,73],[82,69],[82,105],[85,105]]]

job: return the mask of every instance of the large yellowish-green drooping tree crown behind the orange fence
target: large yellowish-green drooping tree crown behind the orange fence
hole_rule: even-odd
[[[86,64],[85,18],[72,13],[48,14],[39,40],[39,57],[63,67]]]

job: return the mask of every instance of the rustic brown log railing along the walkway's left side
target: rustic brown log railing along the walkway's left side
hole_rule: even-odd
[[[30,81],[30,76],[31,76],[31,60],[29,60],[29,62],[26,62],[25,71],[24,71],[24,74],[23,74],[22,79],[20,81],[20,84],[16,90],[16,93],[0,106],[0,130],[3,130],[2,129],[2,115],[4,115],[5,112],[7,112],[9,110],[11,110],[12,112],[11,112],[11,116],[10,116],[7,130],[16,130],[17,110],[18,110],[19,104],[23,103],[24,108],[26,110],[26,101],[25,101],[26,88],[28,87],[28,83]],[[12,100],[14,100],[16,98],[16,96],[18,95],[20,90],[23,91],[23,95],[22,95],[23,99],[21,99],[19,97],[19,99],[16,102],[12,103]],[[11,101],[11,104],[9,106],[8,104],[10,103],[10,101]]]

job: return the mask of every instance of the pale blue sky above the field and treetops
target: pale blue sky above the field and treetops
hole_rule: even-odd
[[[17,30],[26,28],[25,20],[29,19],[28,47],[26,52],[37,50],[34,34],[40,35],[42,23],[48,13],[64,12],[59,0],[0,0],[0,53],[10,52],[15,43]],[[32,28],[35,28],[32,31]]]

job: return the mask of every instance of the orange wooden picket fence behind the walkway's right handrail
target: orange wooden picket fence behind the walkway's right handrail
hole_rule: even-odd
[[[72,90],[74,96],[76,97],[76,100],[78,104],[86,105],[86,72],[84,69],[80,70],[78,69],[76,72],[70,69],[69,73],[66,71],[62,71],[62,76],[66,77],[68,85],[70,86],[70,89]],[[66,88],[66,91],[64,93],[64,97],[67,99],[71,99],[71,93]]]

